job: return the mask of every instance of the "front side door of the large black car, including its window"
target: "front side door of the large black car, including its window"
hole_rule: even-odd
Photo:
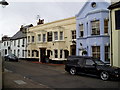
[[[95,74],[96,73],[96,65],[92,59],[85,60],[84,71],[87,74]]]

